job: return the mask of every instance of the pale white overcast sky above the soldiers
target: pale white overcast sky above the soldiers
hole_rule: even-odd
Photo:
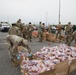
[[[61,1],[61,23],[76,24],[76,0]],[[47,17],[46,17],[47,15]],[[0,0],[0,21],[58,24],[59,0]]]

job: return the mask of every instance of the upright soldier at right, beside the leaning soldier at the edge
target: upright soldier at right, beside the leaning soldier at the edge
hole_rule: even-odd
[[[73,28],[71,26],[71,22],[68,22],[68,26],[66,28],[66,44],[70,41],[70,38],[72,37]]]

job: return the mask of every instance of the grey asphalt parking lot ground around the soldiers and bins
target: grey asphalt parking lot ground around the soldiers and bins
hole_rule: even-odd
[[[5,37],[8,35],[6,32],[0,32],[0,75],[21,75],[20,67],[13,67],[8,54],[8,48],[6,46]],[[61,42],[64,43],[64,42]],[[57,46],[60,43],[52,43],[48,41],[39,42],[38,39],[33,38],[32,42],[29,42],[29,45],[32,49],[32,52],[35,53],[44,46]],[[70,74],[76,75],[76,73]]]

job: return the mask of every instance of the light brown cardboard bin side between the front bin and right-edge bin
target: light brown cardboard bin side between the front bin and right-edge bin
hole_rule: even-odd
[[[55,65],[54,75],[68,75],[68,61],[62,61]]]

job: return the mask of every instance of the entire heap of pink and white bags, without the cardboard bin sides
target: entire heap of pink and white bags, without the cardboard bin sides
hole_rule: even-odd
[[[70,63],[73,59],[76,59],[76,48],[65,44],[55,47],[43,47],[34,56],[37,59],[25,60],[26,57],[24,57],[21,63],[21,69],[27,70],[27,74],[29,73],[30,75],[38,75],[54,69],[55,64],[61,61],[68,60],[68,63]]]

